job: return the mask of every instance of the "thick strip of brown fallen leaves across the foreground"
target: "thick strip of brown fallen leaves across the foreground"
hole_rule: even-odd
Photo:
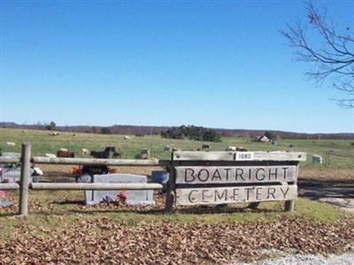
[[[264,249],[296,253],[333,253],[353,242],[354,223],[281,218],[277,222],[138,222],[81,220],[69,230],[21,232],[0,242],[0,258],[9,263],[215,263],[256,258]],[[26,231],[30,231],[27,234]]]

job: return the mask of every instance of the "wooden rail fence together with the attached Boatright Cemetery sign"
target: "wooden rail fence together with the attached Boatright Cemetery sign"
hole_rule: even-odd
[[[113,191],[113,190],[162,190],[159,183],[29,183],[31,163],[58,164],[58,165],[104,165],[104,166],[131,166],[151,167],[160,166],[169,168],[170,179],[167,183],[165,212],[172,213],[173,203],[178,205],[221,204],[232,202],[250,202],[257,205],[259,201],[285,200],[285,208],[292,211],[294,199],[297,196],[296,178],[299,161],[306,160],[304,152],[173,152],[171,160],[112,160],[112,159],[82,159],[82,158],[47,158],[32,157],[31,144],[22,144],[21,157],[0,157],[1,163],[20,163],[20,182],[0,183],[0,190],[19,190],[19,215],[28,214],[28,190],[63,190],[63,191]],[[212,171],[213,170],[213,171]],[[220,171],[223,170],[221,174]],[[235,180],[228,179],[228,173],[235,171]],[[242,175],[249,172],[249,175]],[[268,180],[260,177],[258,172],[269,170]],[[273,170],[273,172],[272,172]],[[282,170],[282,171],[281,171]],[[199,173],[195,174],[198,171]],[[212,173],[213,172],[213,173]],[[216,174],[215,172],[218,172]],[[275,173],[274,173],[275,172]],[[283,172],[278,179],[277,172]],[[241,175],[240,175],[241,174]],[[251,176],[253,174],[254,176]],[[288,174],[288,175],[286,175]],[[206,179],[213,175],[211,179]],[[245,177],[249,177],[246,181]],[[197,176],[197,177],[196,177]],[[240,180],[237,180],[237,177]],[[272,177],[272,179],[271,179]],[[254,186],[257,183],[258,186]],[[247,184],[247,187],[246,187]],[[253,186],[250,186],[253,185]],[[266,195],[260,195],[261,190],[267,187]],[[249,189],[249,190],[247,190]],[[288,190],[287,190],[288,189]],[[259,191],[258,191],[259,190]],[[235,199],[236,192],[247,191],[245,199]],[[270,192],[272,191],[272,192]],[[275,196],[275,192],[282,192]],[[285,193],[289,191],[289,193]],[[207,193],[213,192],[213,193]],[[227,192],[232,196],[227,197]],[[256,197],[249,199],[253,192]],[[193,193],[193,198],[191,194]],[[258,194],[259,193],[259,194]],[[211,195],[212,194],[212,195]],[[288,194],[286,196],[286,194]],[[269,198],[270,195],[273,198]],[[216,200],[208,200],[214,196]],[[232,199],[233,198],[233,199]],[[221,200],[220,200],[221,199]]]

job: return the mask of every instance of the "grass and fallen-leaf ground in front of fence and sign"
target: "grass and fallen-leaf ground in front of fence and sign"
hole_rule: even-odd
[[[30,214],[1,209],[0,263],[214,264],[264,258],[265,250],[337,253],[354,243],[352,214],[308,199],[239,207],[85,207],[77,191],[30,195]],[[15,198],[13,198],[14,201]]]

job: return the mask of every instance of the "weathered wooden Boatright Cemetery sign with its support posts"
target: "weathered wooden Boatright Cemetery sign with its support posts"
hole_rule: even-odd
[[[180,206],[285,200],[292,211],[304,152],[173,152],[165,211]]]

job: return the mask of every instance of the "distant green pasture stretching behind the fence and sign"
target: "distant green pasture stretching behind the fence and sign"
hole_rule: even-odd
[[[105,146],[114,145],[123,152],[124,159],[135,158],[142,148],[149,148],[151,156],[158,159],[169,159],[170,153],[164,152],[165,145],[171,145],[181,150],[196,150],[202,147],[202,142],[190,140],[166,139],[160,136],[131,136],[131,140],[124,140],[121,135],[100,135],[86,133],[60,133],[59,136],[50,136],[48,131],[21,129],[0,129],[0,149],[3,152],[20,152],[20,144],[29,141],[32,144],[33,155],[44,155],[46,152],[56,153],[59,148],[74,151],[82,157],[81,149],[101,151]],[[6,142],[13,142],[15,146],[7,146]],[[242,146],[249,151],[288,151],[307,152],[308,159],[303,166],[311,166],[311,155],[323,157],[325,164],[331,168],[354,168],[354,140],[307,140],[281,139],[278,145],[269,143],[255,143],[253,139],[242,137],[223,137],[221,143],[210,143],[211,151],[225,151],[228,145]],[[294,147],[289,148],[289,144]],[[326,161],[326,159],[328,160]]]

